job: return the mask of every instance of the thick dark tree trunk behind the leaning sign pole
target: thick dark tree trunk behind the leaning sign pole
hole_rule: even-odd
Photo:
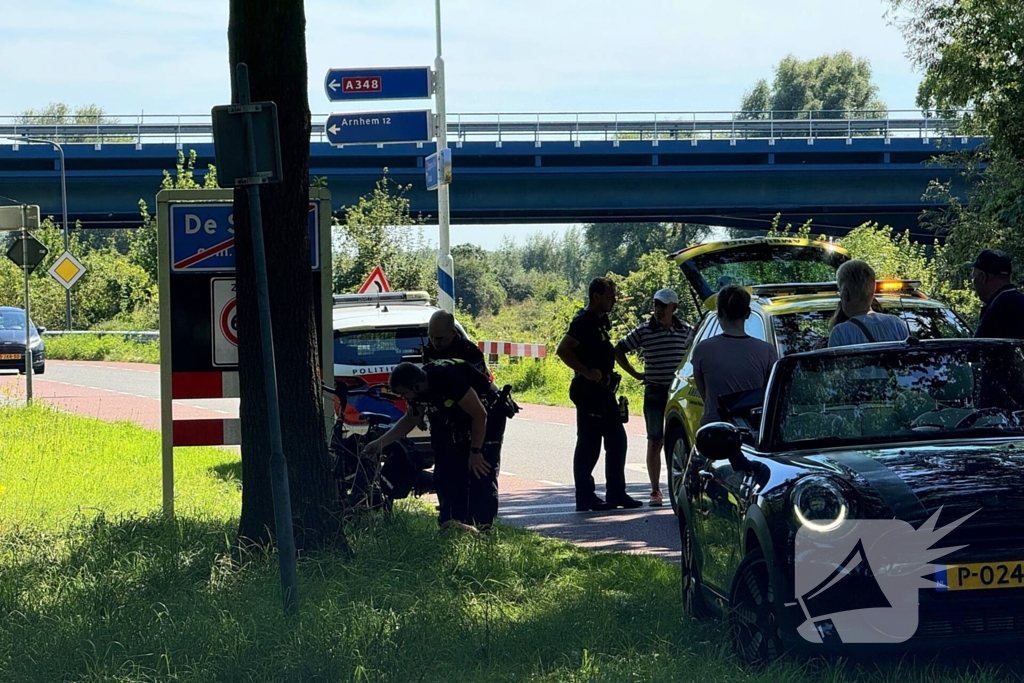
[[[335,488],[324,433],[309,266],[309,101],[303,0],[230,0],[227,31],[232,101],[234,69],[249,68],[252,101],[278,104],[283,182],[263,185],[260,201],[278,367],[282,438],[288,460],[295,545],[313,549],[338,530]],[[240,543],[273,537],[270,430],[263,379],[256,274],[245,189],[234,190],[234,250],[242,391]],[[323,260],[329,258],[325,255]],[[329,373],[330,375],[331,373]]]

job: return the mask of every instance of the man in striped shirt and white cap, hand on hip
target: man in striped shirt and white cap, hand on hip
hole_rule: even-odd
[[[615,345],[615,360],[629,375],[643,382],[643,415],[647,423],[647,474],[650,475],[651,507],[664,503],[662,496],[662,447],[665,445],[665,407],[669,385],[693,339],[693,328],[676,317],[679,295],[662,289],[654,293],[654,313]],[[626,354],[640,351],[644,372],[637,372]]]

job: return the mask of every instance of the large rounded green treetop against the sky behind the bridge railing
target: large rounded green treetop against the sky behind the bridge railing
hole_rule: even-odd
[[[811,59],[786,56],[775,68],[775,78],[759,80],[740,102],[744,119],[844,118],[885,116],[885,102],[871,82],[871,65],[848,51]]]

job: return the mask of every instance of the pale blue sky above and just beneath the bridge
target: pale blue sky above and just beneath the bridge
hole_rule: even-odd
[[[4,0],[3,7],[0,116],[50,101],[95,103],[125,119],[205,114],[230,99],[227,0]],[[324,93],[330,68],[433,60],[433,0],[306,0],[305,7],[314,115],[333,111]],[[921,77],[886,23],[887,7],[881,0],[442,0],[447,110],[726,112],[786,54],[843,49],[870,60],[891,110],[912,110]],[[481,239],[463,226],[452,240],[472,233],[493,248],[506,232],[541,227],[490,227]]]

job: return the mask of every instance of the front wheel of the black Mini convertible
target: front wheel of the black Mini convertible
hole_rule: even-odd
[[[736,568],[729,600],[729,636],[736,655],[745,664],[763,665],[782,654],[777,597],[768,561],[757,548]]]

